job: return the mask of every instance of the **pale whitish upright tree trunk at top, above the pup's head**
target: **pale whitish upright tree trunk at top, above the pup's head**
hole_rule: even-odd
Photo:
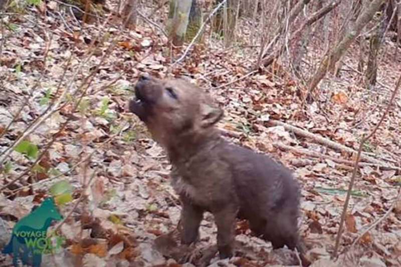
[[[191,0],[170,0],[167,31],[174,46],[182,46],[189,21]]]

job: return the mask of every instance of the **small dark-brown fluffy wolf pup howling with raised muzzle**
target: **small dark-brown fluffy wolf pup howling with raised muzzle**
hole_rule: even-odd
[[[273,248],[298,249],[299,186],[290,170],[263,154],[231,144],[215,127],[223,111],[196,86],[181,79],[141,76],[129,110],[167,151],[172,186],[180,197],[181,243],[198,237],[204,211],[217,224],[220,258],[233,256],[236,218]]]

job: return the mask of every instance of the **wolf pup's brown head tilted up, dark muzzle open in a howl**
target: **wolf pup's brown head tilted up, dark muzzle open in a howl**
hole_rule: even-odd
[[[223,116],[223,110],[189,82],[146,75],[135,86],[135,98],[130,101],[129,110],[164,146],[182,136],[207,135]]]

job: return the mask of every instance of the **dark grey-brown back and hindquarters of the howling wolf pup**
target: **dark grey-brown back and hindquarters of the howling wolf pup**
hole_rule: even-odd
[[[226,145],[222,157],[229,162],[239,216],[251,230],[272,242],[274,248],[297,244],[298,183],[291,172],[263,154],[237,145]]]

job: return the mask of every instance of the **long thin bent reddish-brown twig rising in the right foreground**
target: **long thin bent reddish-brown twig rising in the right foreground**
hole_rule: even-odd
[[[397,83],[395,85],[394,91],[393,91],[393,93],[391,95],[390,102],[388,103],[386,110],[384,111],[383,115],[381,116],[380,121],[377,123],[376,127],[374,127],[374,129],[371,131],[371,133],[368,136],[363,137],[362,140],[360,141],[358,154],[357,154],[356,159],[355,159],[354,170],[352,172],[351,180],[349,182],[347,196],[345,198],[344,208],[343,208],[342,214],[341,214],[340,225],[338,227],[338,232],[337,232],[337,236],[336,236],[336,240],[335,240],[335,247],[334,247],[334,253],[333,253],[333,257],[334,258],[337,257],[338,247],[339,247],[339,244],[340,244],[340,238],[341,238],[341,234],[342,234],[342,228],[344,227],[345,215],[346,215],[346,212],[347,212],[349,199],[351,197],[352,187],[353,187],[353,184],[355,182],[356,172],[358,170],[358,162],[359,162],[359,158],[360,158],[360,155],[361,155],[362,146],[365,143],[365,141],[369,140],[369,138],[372,137],[376,133],[377,129],[379,128],[380,124],[384,120],[385,116],[388,114],[388,111],[390,110],[391,104],[392,104],[392,102],[393,102],[393,100],[394,100],[394,98],[395,98],[395,96],[397,94],[397,91],[398,91],[400,83],[401,83],[401,75],[398,78],[398,81],[397,81]]]

